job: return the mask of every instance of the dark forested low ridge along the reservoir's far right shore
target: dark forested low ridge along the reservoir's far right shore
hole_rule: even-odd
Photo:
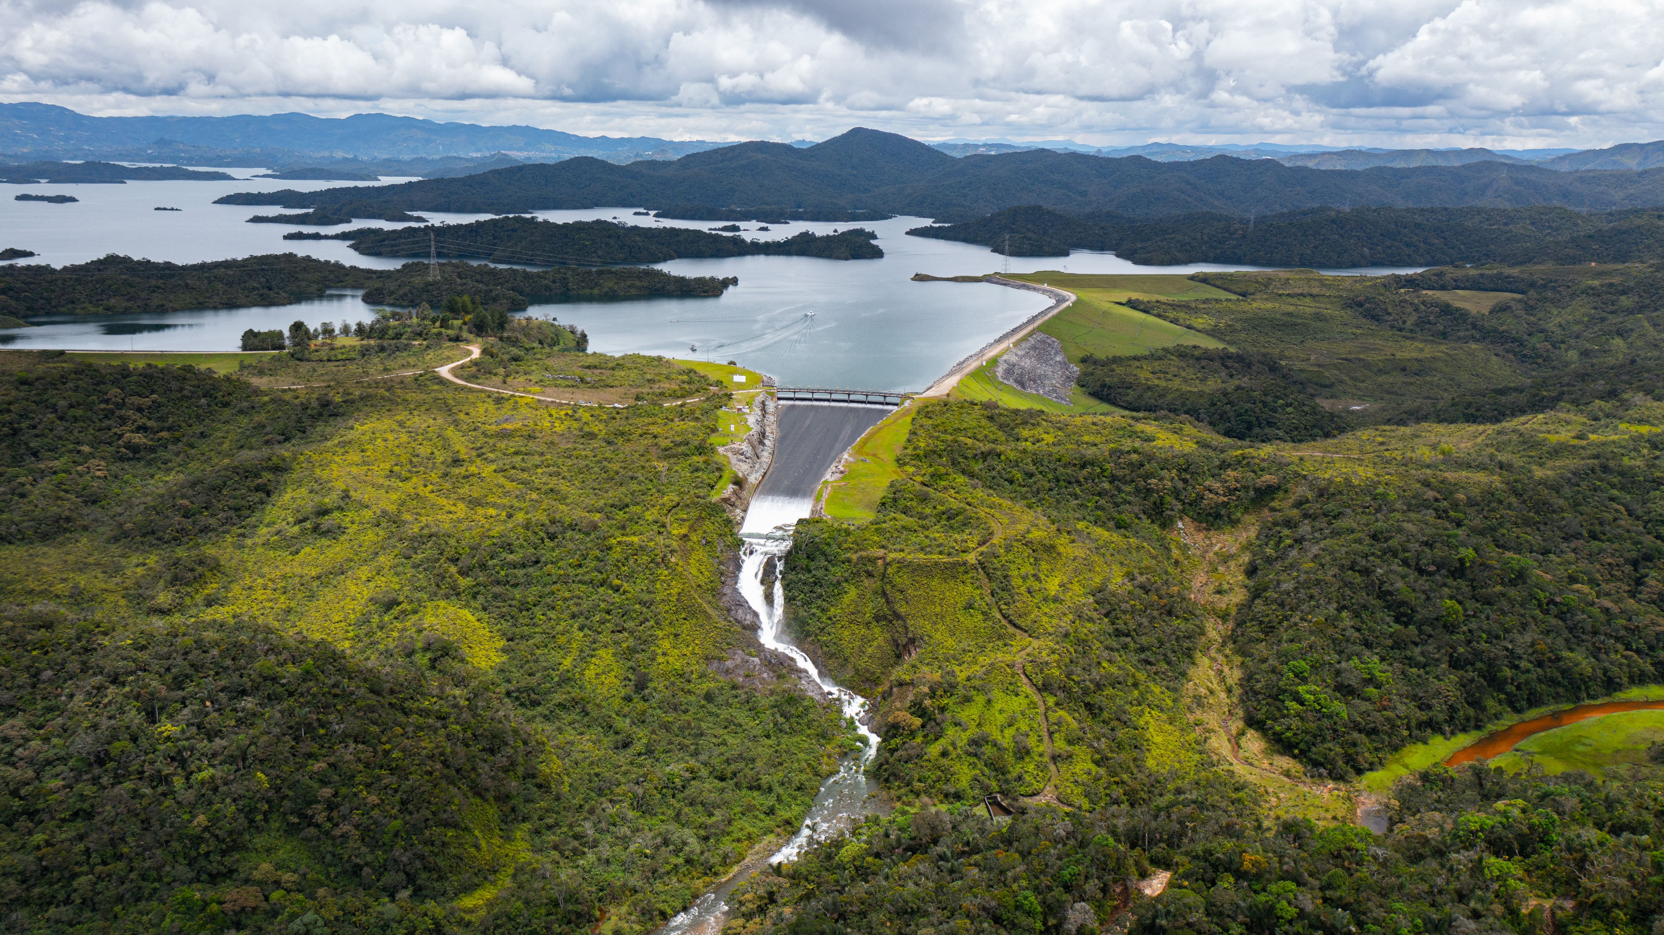
[[[1063,215],[1008,208],[912,236],[985,243],[1012,256],[1108,250],[1143,266],[1448,266],[1456,263],[1644,263],[1664,260],[1657,208],[1579,213],[1569,208],[1308,208],[1263,218],[1228,213],[1138,220],[1113,211]]]

